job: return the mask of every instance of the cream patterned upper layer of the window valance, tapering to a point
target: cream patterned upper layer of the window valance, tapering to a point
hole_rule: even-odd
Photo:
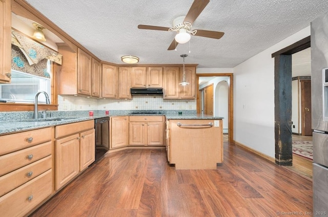
[[[30,65],[36,64],[45,58],[61,65],[63,55],[13,30],[11,31],[11,44],[17,46],[23,52]]]

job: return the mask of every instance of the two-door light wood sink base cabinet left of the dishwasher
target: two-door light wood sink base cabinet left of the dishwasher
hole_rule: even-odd
[[[55,127],[56,181],[58,190],[95,161],[94,121]]]

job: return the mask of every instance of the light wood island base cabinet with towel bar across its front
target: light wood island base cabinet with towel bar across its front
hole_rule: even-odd
[[[222,163],[222,120],[169,120],[169,124],[169,161],[176,169],[216,169]]]

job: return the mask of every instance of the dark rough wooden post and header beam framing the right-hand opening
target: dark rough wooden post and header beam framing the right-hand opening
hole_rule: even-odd
[[[272,54],[275,58],[275,162],[292,166],[292,54],[311,47],[308,36]]]

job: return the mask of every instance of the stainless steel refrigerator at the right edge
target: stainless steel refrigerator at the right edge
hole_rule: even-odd
[[[328,12],[311,22],[313,216],[328,216]]]

